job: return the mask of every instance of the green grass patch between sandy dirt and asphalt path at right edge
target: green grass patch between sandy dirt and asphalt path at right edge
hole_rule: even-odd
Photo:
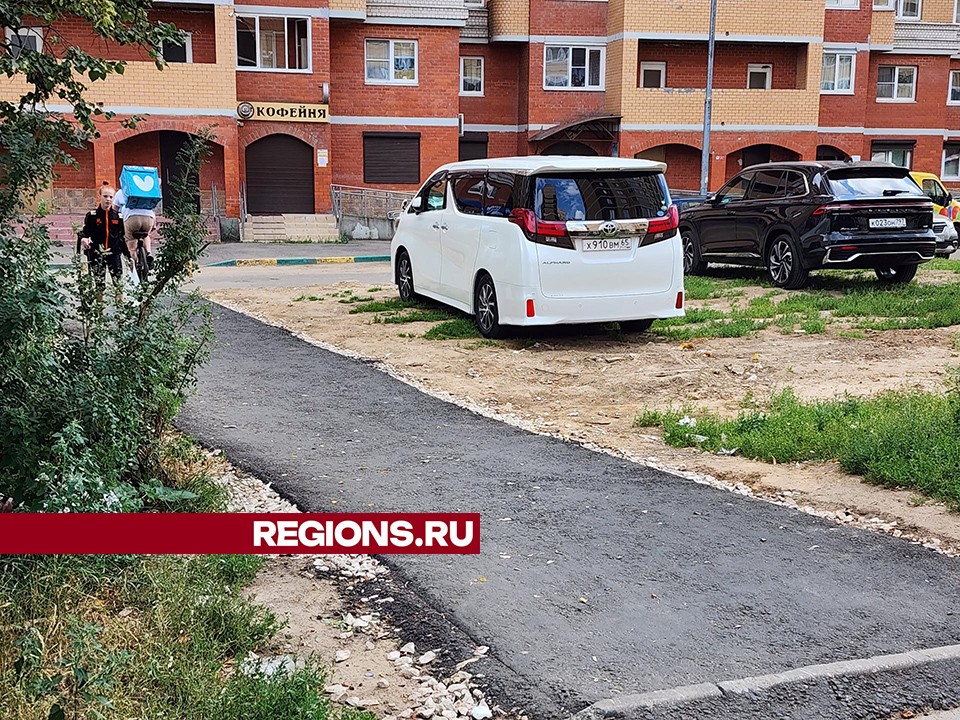
[[[691,410],[646,411],[638,427],[662,426],[671,445],[732,451],[768,462],[837,460],[890,487],[917,489],[960,507],[960,383],[946,394],[888,392],[802,402],[787,389],[736,419]]]

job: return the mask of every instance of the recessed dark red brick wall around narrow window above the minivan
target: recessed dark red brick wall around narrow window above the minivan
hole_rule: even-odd
[[[463,57],[482,57],[483,97],[461,97],[460,112],[467,123],[516,125],[517,87],[520,82],[518,45],[464,43]],[[457,60],[459,62],[459,59]]]

